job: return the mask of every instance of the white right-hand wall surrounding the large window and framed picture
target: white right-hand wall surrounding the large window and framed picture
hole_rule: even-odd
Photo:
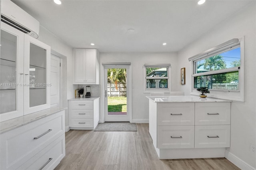
[[[256,3],[238,11],[225,22],[216,25],[204,36],[178,52],[178,67],[186,67],[186,85],[179,85],[181,91],[189,95],[192,89],[192,63],[189,57],[206,49],[219,45],[232,38],[244,36],[245,69],[244,99],[245,102],[232,102],[231,107],[231,145],[227,154],[256,168],[256,154],[250,152],[250,143],[256,145]],[[177,70],[178,71],[178,70]],[[239,161],[238,161],[239,162]],[[237,164],[238,165],[238,164]],[[249,167],[250,167],[249,166]],[[240,166],[242,168],[244,166]],[[245,168],[245,167],[244,167]],[[248,169],[248,168],[247,168]]]

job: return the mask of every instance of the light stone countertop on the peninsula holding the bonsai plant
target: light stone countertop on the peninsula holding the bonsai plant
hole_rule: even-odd
[[[232,102],[230,100],[216,98],[201,98],[199,96],[146,96],[155,103],[190,103],[190,102]]]

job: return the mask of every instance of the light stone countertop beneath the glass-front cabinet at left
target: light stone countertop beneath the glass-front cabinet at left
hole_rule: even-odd
[[[54,113],[58,113],[60,111],[64,111],[67,108],[64,107],[52,107],[50,109],[45,109],[42,111],[38,111],[35,113],[31,113],[28,115],[24,115],[21,117],[17,117],[14,119],[10,119],[8,121],[4,121],[0,123],[0,134],[8,132],[10,130],[13,130],[18,127],[22,127],[24,125],[27,125],[31,122],[37,121],[39,119],[42,119],[44,117],[47,117],[49,115],[52,115]]]

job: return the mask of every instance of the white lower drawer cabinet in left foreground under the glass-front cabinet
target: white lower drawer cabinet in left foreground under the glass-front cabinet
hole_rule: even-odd
[[[65,112],[60,111],[1,134],[0,169],[54,169],[65,156]],[[47,168],[46,168],[47,167]]]

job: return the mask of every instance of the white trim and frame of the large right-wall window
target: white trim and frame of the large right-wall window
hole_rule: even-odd
[[[232,39],[234,42],[236,42],[236,39]],[[244,102],[244,37],[242,38],[238,38],[239,42],[240,42],[240,67],[233,67],[233,68],[229,68],[229,69],[222,69],[222,70],[216,70],[216,71],[212,71],[210,74],[215,74],[215,73],[225,73],[228,71],[235,71],[235,70],[239,70],[239,90],[238,91],[229,91],[229,90],[214,90],[214,89],[209,89],[210,93],[207,93],[208,97],[214,97],[214,98],[218,98],[218,99],[227,99],[227,100],[232,100],[232,101],[241,101]],[[222,47],[223,46],[223,47]],[[199,95],[200,92],[197,91],[194,88],[194,76],[199,76],[202,75],[201,73],[196,73],[194,74],[194,61],[198,60],[198,59],[203,59],[206,58],[208,56],[209,53],[211,53],[214,55],[215,53],[218,53],[218,51],[222,51],[223,49],[227,48],[228,46],[234,46],[234,44],[232,45],[232,41],[229,40],[228,42],[222,43],[216,47],[213,47],[211,49],[208,49],[198,55],[195,55],[193,57],[190,57],[188,60],[191,61],[192,63],[192,91],[191,91],[191,95]],[[215,50],[215,51],[214,51]],[[205,75],[206,73],[204,73]]]

